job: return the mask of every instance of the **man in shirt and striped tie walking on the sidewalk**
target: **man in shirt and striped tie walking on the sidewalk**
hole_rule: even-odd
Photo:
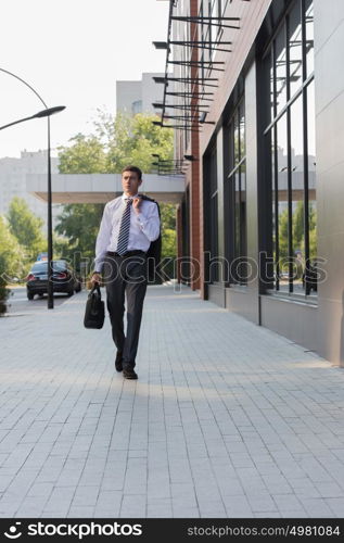
[[[104,278],[112,337],[117,348],[115,367],[126,379],[135,371],[143,301],[146,291],[146,252],[160,236],[156,202],[139,194],[142,172],[127,166],[122,172],[123,194],[106,203],[95,243],[92,283]],[[125,294],[127,329],[124,331]]]

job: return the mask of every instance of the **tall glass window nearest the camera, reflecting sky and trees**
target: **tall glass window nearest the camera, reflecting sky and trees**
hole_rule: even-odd
[[[271,159],[271,288],[293,295],[317,290],[313,48],[313,2],[296,0],[265,60],[272,97],[265,131]]]

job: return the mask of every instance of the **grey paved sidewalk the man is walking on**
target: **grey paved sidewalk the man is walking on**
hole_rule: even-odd
[[[344,517],[344,371],[150,287],[138,381],[86,292],[0,319],[1,517]]]

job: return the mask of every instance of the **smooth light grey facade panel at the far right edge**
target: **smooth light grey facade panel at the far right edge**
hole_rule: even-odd
[[[344,364],[344,2],[326,10],[315,0],[318,252],[326,262],[319,283],[319,353]],[[329,84],[330,81],[330,84]]]

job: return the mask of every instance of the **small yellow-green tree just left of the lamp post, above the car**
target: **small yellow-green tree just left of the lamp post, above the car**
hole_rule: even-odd
[[[47,250],[41,230],[43,220],[30,211],[23,198],[13,198],[8,220],[11,233],[24,249],[26,262],[36,260],[39,252]]]

